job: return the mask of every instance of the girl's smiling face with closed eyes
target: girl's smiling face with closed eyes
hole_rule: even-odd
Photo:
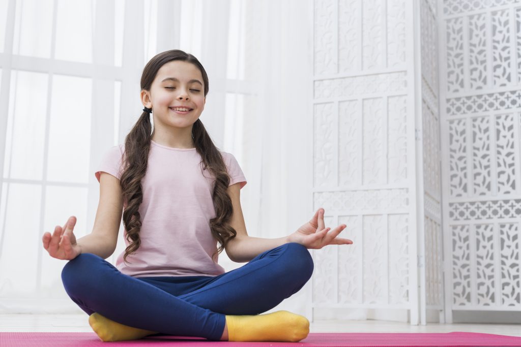
[[[154,125],[191,127],[203,112],[203,75],[192,63],[172,60],[157,71],[149,91],[141,91],[143,105],[152,108]],[[188,112],[173,108],[189,108]]]

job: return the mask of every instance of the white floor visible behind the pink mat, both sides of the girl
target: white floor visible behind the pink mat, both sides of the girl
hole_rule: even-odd
[[[322,320],[311,332],[483,332],[521,337],[519,324],[409,325],[382,320]],[[0,331],[92,332],[86,314],[0,314]]]

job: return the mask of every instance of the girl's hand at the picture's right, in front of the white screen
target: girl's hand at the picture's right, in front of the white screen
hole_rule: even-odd
[[[289,235],[287,240],[300,243],[308,249],[320,249],[327,245],[351,245],[353,241],[337,238],[345,227],[345,224],[341,224],[328,234],[331,228],[326,228],[324,225],[324,209],[318,209],[311,221]]]

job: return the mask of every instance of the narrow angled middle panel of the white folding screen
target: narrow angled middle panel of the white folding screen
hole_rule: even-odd
[[[416,81],[421,93],[417,95],[420,102],[417,128],[421,129],[421,150],[418,155],[421,173],[417,175],[420,185],[423,186],[423,199],[419,200],[420,218],[423,220],[423,230],[419,233],[419,262],[420,266],[420,322],[440,320],[443,322],[443,258],[441,232],[441,149],[440,149],[440,117],[438,92],[438,10],[434,0],[420,0],[420,25],[418,35],[420,42],[416,47],[420,49],[420,81]],[[418,47],[419,45],[419,47]],[[423,211],[423,215],[422,214]],[[430,315],[428,315],[430,313]],[[428,318],[430,316],[430,319]]]

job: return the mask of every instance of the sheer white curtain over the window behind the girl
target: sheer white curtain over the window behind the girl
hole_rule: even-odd
[[[0,0],[0,312],[82,312],[61,284],[66,262],[41,238],[70,215],[77,238],[91,232],[96,166],[141,114],[142,69],[164,50],[194,54],[208,73],[201,121],[246,175],[249,235],[282,237],[311,219],[312,5]],[[219,262],[243,265],[224,252]],[[307,288],[276,309],[308,315]]]

